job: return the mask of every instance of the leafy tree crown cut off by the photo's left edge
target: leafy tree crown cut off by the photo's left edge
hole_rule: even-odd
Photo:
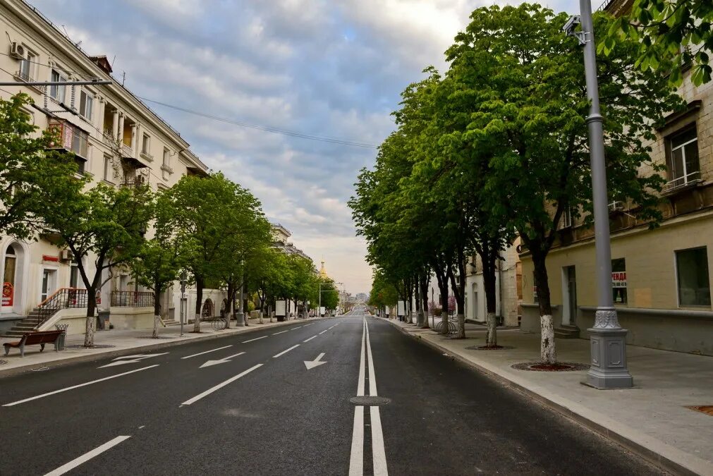
[[[0,99],[0,229],[18,239],[31,239],[41,229],[43,190],[81,189],[73,154],[50,150],[58,141],[52,130],[37,134],[24,94]]]

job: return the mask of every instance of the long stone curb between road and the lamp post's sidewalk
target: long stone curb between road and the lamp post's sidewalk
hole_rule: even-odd
[[[587,418],[583,415],[580,415],[579,413],[576,413],[573,410],[570,410],[569,408],[560,405],[559,403],[553,402],[552,400],[548,399],[547,397],[540,395],[539,393],[534,392],[533,390],[530,390],[529,388],[523,387],[518,383],[515,383],[508,378],[501,376],[498,373],[495,373],[488,368],[485,368],[478,363],[475,363],[473,361],[468,360],[468,358],[465,358],[461,356],[460,354],[453,352],[452,350],[445,348],[438,343],[431,342],[427,339],[421,338],[421,336],[414,336],[413,334],[409,333],[406,328],[399,326],[398,324],[391,322],[390,320],[388,321],[389,324],[392,326],[396,327],[404,333],[406,336],[409,336],[414,339],[414,341],[418,341],[420,343],[423,343],[426,346],[429,346],[431,348],[434,348],[437,351],[440,351],[442,353],[447,353],[449,358],[452,358],[460,363],[463,363],[463,365],[466,365],[470,368],[475,369],[476,371],[479,371],[486,376],[493,378],[493,380],[498,381],[499,383],[503,384],[503,386],[506,386],[508,388],[512,388],[513,390],[516,390],[520,393],[523,393],[523,395],[527,396],[528,398],[531,398],[541,405],[550,408],[550,410],[555,410],[557,413],[560,413],[561,415],[565,416],[566,418],[573,420],[575,423],[578,423],[580,425],[583,425],[585,428],[588,428],[589,430],[592,430],[593,432],[602,435],[604,438],[607,438],[614,443],[617,443],[618,445],[624,447],[626,450],[629,450],[630,452],[634,453],[635,455],[642,457],[644,460],[649,462],[650,464],[665,470],[667,472],[671,472],[672,474],[675,475],[685,475],[685,476],[698,476],[702,475],[705,473],[699,473],[695,472],[693,470],[690,470],[688,467],[684,466],[681,462],[672,460],[669,457],[666,457],[664,455],[661,455],[660,453],[657,453],[653,450],[650,450],[648,447],[645,445],[642,445],[641,443],[638,443],[635,440],[632,440],[630,438],[627,438],[627,436],[622,435],[620,433],[617,433],[613,430],[610,430],[609,428],[606,428],[603,425],[600,425],[600,423],[596,423],[593,420],[590,420],[590,418]],[[691,456],[694,457],[694,456]]]

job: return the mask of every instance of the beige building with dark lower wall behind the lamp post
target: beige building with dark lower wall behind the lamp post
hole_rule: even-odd
[[[612,14],[632,0],[612,0]],[[696,87],[684,73],[687,109],[657,130],[653,162],[665,165],[664,219],[650,230],[629,204],[610,204],[612,295],[627,343],[713,355],[710,269],[713,259],[713,83]],[[657,173],[642,168],[641,173]],[[523,262],[523,330],[539,332],[533,263]],[[596,306],[593,229],[563,217],[548,255],[555,327],[588,338]]]

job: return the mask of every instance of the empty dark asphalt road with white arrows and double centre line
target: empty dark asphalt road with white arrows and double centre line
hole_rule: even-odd
[[[1,378],[0,448],[3,476],[657,474],[361,310]]]

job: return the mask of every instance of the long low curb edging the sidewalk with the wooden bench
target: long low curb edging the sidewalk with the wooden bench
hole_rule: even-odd
[[[322,321],[324,319],[327,319],[327,318],[305,319],[305,320],[314,322],[314,321]],[[272,325],[269,328],[282,327],[282,326],[287,326],[287,324],[298,324],[298,323],[299,323],[299,321],[297,321],[297,319],[293,319],[292,321],[273,323],[276,325]],[[247,328],[247,330],[242,331],[242,332],[207,333],[205,336],[187,338],[187,339],[183,339],[183,340],[176,339],[176,340],[165,341],[165,342],[157,342],[155,344],[148,344],[146,346],[135,346],[135,347],[120,348],[120,349],[106,351],[106,352],[90,353],[85,356],[71,356],[71,357],[59,358],[59,359],[56,359],[54,361],[49,361],[49,362],[29,363],[29,364],[27,364],[25,366],[21,366],[21,367],[7,368],[4,370],[0,369],[0,378],[16,376],[21,373],[31,372],[32,368],[46,367],[46,370],[49,370],[51,368],[68,366],[68,365],[72,365],[74,363],[84,363],[84,362],[98,361],[98,360],[102,360],[104,358],[109,358],[109,357],[125,356],[130,353],[136,352],[137,349],[140,351],[155,351],[155,350],[158,350],[161,348],[166,348],[166,347],[181,346],[184,344],[194,343],[194,342],[210,341],[211,339],[214,339],[214,338],[225,338],[225,337],[230,337],[230,336],[237,336],[237,335],[246,334],[246,333],[250,333],[250,332],[260,331],[260,329],[263,328],[260,324],[257,324],[257,323],[252,324],[252,326],[255,326],[255,327]],[[249,327],[252,327],[252,326],[249,326]],[[148,331],[150,331],[150,329],[148,329]]]

